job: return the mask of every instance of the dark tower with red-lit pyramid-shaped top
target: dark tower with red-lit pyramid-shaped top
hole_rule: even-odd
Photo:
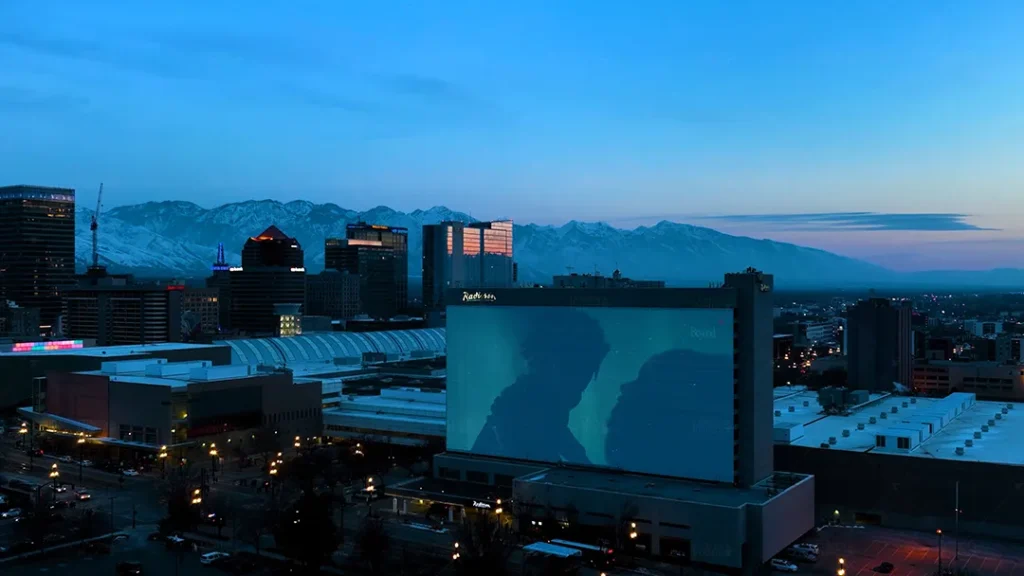
[[[242,266],[230,269],[231,329],[274,334],[274,304],[305,303],[306,269],[299,241],[271,225],[246,241]],[[301,307],[300,307],[301,311]]]

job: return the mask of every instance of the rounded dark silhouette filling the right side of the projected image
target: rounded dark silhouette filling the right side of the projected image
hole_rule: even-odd
[[[682,476],[679,472],[698,466],[680,461],[671,447],[722,438],[732,423],[732,403],[725,407],[728,413],[713,416],[706,411],[717,399],[732,397],[732,381],[731,355],[674,349],[649,359],[637,379],[623,385],[611,410],[604,444],[608,465],[666,476]],[[728,439],[731,443],[732,437]],[[697,452],[690,454],[699,448],[692,447]],[[728,457],[731,460],[731,451]]]

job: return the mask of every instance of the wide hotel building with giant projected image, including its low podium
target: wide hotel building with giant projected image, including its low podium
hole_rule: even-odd
[[[385,494],[760,573],[814,527],[815,479],[774,465],[772,286],[449,291],[446,452]]]

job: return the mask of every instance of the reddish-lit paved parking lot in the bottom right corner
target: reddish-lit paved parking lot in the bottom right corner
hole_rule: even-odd
[[[847,576],[869,576],[884,562],[893,565],[892,576],[931,576],[939,563],[937,534],[878,527],[826,528],[811,541],[821,546],[813,568],[801,572],[836,574],[839,559],[846,561]],[[952,535],[943,534],[943,567],[963,567],[977,576],[1024,576],[1024,545],[964,538],[958,556]],[[956,558],[954,558],[956,557]]]

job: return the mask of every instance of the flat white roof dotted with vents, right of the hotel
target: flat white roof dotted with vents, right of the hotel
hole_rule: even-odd
[[[780,415],[775,416],[775,424],[803,426],[803,436],[788,443],[793,446],[820,448],[822,444],[828,444],[830,450],[871,452],[878,450],[876,439],[879,435],[899,428],[909,429],[913,427],[914,420],[934,417],[945,410],[949,398],[871,395],[867,403],[853,408],[848,415],[829,416],[822,412],[816,393],[799,387],[776,388],[775,410]],[[794,407],[792,412],[791,406]],[[886,414],[884,418],[883,413]],[[982,426],[987,426],[987,431]],[[980,438],[976,438],[976,433]],[[1024,465],[1024,450],[1019,446],[1022,437],[1024,405],[976,401],[913,449],[886,453]],[[971,446],[967,445],[968,441]],[[956,454],[957,448],[964,449],[963,455]]]

